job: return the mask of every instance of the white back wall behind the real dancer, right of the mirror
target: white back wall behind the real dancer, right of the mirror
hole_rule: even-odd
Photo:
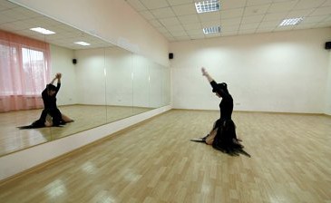
[[[170,43],[173,108],[219,108],[205,66],[228,82],[235,110],[323,113],[330,35],[328,28]]]

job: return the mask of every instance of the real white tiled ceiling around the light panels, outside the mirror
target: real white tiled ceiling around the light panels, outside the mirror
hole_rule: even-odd
[[[199,0],[125,1],[170,42],[331,27],[331,0],[219,0],[220,11],[204,14],[196,12]],[[278,26],[294,17],[304,20]],[[219,25],[219,34],[203,34],[202,28]]]

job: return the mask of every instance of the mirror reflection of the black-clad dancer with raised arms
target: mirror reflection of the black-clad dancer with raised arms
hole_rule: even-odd
[[[46,85],[46,88],[42,92],[44,110],[39,120],[34,121],[30,128],[42,128],[50,126],[60,126],[73,120],[61,113],[56,105],[56,94],[59,92],[61,87],[61,73],[56,73],[51,83]],[[54,82],[57,80],[56,87]]]

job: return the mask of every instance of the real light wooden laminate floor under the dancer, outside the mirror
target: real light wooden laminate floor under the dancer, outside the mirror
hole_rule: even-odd
[[[2,184],[1,202],[331,202],[331,117],[235,111],[248,158],[190,141],[218,116],[167,111]]]

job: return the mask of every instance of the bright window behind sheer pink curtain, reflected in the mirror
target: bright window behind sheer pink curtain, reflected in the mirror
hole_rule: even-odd
[[[49,78],[46,50],[0,40],[0,95],[40,95]]]

